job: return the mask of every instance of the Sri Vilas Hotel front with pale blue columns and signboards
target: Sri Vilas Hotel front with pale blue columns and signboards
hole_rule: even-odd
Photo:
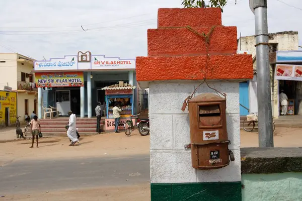
[[[78,52],[78,55],[34,63],[38,87],[38,115],[43,108],[57,108],[60,116],[71,110],[77,116],[92,118],[97,103],[107,102],[102,88],[119,81],[136,86],[135,59],[120,59]],[[136,90],[131,89],[131,113],[136,113]]]

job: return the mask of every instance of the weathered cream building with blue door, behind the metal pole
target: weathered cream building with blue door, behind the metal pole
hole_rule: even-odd
[[[274,54],[276,51],[292,51],[298,50],[298,32],[296,31],[285,31],[278,33],[269,34],[269,53]],[[255,36],[241,37],[238,40],[238,51],[247,51],[253,56],[253,69],[254,78],[247,82],[241,83],[240,88],[240,104],[244,107],[240,107],[240,115],[245,116],[248,113],[257,113],[257,67],[256,67],[256,41]],[[279,117],[279,100],[278,100],[278,87],[279,81],[274,79],[275,65],[270,62],[271,72],[271,94],[272,94],[272,111],[273,117]]]

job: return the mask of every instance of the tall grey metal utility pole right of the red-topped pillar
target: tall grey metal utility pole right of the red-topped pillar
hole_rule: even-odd
[[[267,28],[267,0],[250,0],[255,14],[259,147],[274,147]]]

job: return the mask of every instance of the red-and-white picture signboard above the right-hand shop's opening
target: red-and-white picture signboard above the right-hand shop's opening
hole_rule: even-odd
[[[275,79],[302,81],[302,66],[277,64]]]

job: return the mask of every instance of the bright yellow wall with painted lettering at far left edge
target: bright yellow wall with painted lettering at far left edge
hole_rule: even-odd
[[[8,94],[8,96],[7,96]],[[17,93],[0,91],[0,125],[5,126],[5,109],[9,108],[9,126],[17,120]]]

